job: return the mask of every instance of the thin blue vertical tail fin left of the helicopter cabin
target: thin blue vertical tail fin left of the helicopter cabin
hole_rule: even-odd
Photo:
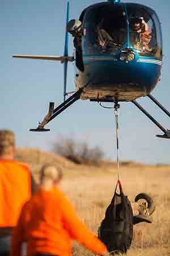
[[[70,10],[70,3],[67,2],[67,16],[66,16],[66,24],[69,22],[69,10]],[[68,48],[69,48],[69,33],[66,30],[65,35],[65,50],[64,50],[64,57],[68,57]],[[68,60],[66,59],[63,63],[64,68],[64,89],[63,89],[63,100],[66,100],[66,89],[67,89],[67,68],[68,68]]]

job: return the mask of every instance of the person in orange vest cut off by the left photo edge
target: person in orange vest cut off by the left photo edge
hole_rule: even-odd
[[[14,133],[0,130],[0,256],[9,255],[12,229],[23,204],[35,189],[29,167],[15,161],[14,156]]]

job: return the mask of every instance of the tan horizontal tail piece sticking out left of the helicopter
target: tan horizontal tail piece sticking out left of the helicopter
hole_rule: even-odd
[[[73,61],[73,56],[44,56],[44,55],[12,55],[14,58],[20,59],[35,59],[35,60],[56,60],[61,61],[61,63],[65,61]]]

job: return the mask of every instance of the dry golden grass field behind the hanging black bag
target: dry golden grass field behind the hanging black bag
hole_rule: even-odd
[[[103,163],[99,168],[77,166],[60,156],[54,159],[65,173],[63,191],[73,201],[79,216],[96,233],[113,196],[117,181],[115,164]],[[157,204],[152,224],[134,226],[134,240],[128,256],[170,256],[170,167],[130,163],[121,166],[120,174],[124,191],[131,201],[137,193],[148,192]],[[94,254],[75,243],[73,255]]]

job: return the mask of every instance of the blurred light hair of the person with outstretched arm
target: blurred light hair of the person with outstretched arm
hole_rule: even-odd
[[[54,182],[61,180],[63,177],[62,168],[54,164],[44,164],[40,171],[40,183],[46,179]]]

